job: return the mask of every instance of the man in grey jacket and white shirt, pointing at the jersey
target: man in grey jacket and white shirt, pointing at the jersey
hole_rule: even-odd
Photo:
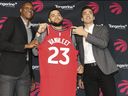
[[[79,80],[87,96],[99,96],[99,88],[104,96],[116,96],[114,73],[118,70],[107,46],[108,30],[105,26],[94,25],[93,10],[86,6],[81,11],[84,25],[74,31],[80,63],[84,67],[83,78]]]

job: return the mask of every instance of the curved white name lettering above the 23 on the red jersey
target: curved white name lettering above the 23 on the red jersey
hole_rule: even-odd
[[[70,41],[64,39],[64,38],[59,38],[59,37],[55,37],[55,38],[51,38],[48,40],[48,42],[53,45],[55,43],[60,43],[60,44],[63,44],[65,46],[68,46],[69,44],[71,44]]]

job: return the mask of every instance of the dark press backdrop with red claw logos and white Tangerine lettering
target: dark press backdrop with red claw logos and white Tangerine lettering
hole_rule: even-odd
[[[28,0],[26,0],[28,1]],[[30,1],[30,0],[29,0]],[[0,29],[8,17],[19,16],[19,6],[24,1],[0,1]],[[128,1],[32,1],[35,16],[33,26],[40,22],[47,22],[48,11],[55,6],[62,10],[64,23],[68,25],[82,25],[80,10],[87,5],[94,9],[95,23],[98,26],[106,25],[110,33],[109,49],[114,57],[119,73],[115,76],[117,96],[128,96]],[[30,96],[39,96],[39,66],[38,57],[33,56],[33,71],[36,79],[36,88],[31,90]],[[71,85],[70,85],[71,86]],[[86,96],[83,90],[77,88],[77,96]],[[102,92],[100,93],[102,95]]]

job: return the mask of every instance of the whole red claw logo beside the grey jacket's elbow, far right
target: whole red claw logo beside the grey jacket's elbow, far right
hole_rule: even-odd
[[[114,43],[115,46],[115,51],[120,51],[120,52],[125,52],[128,48],[128,45],[126,41],[122,39],[117,39],[116,42]]]

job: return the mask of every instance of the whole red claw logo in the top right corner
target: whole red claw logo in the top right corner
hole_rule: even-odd
[[[122,6],[117,3],[117,2],[113,2],[110,6],[109,9],[111,10],[111,13],[118,15],[122,13]]]

